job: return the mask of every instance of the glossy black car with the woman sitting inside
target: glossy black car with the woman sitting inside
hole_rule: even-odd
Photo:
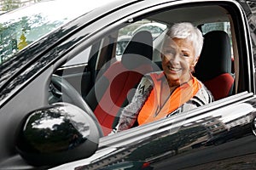
[[[1,63],[0,169],[256,169],[256,2],[93,5]],[[161,71],[166,31],[137,32],[117,59],[145,20],[202,31],[195,77],[215,101],[112,133],[143,75]]]

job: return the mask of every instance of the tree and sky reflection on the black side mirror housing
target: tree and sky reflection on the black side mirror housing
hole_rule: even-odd
[[[49,125],[50,121],[60,123]],[[33,114],[24,134],[34,151],[47,153],[72,149],[83,143],[86,138],[81,130],[88,129],[83,122],[75,122],[73,117],[67,116],[66,111],[52,108]]]

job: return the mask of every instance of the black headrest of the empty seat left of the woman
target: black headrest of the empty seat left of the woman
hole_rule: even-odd
[[[153,37],[149,31],[137,32],[128,42],[121,63],[127,69],[148,64],[153,57]]]

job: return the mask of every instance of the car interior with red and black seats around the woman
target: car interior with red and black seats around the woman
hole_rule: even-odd
[[[79,92],[94,111],[104,135],[108,135],[118,122],[122,108],[131,101],[143,75],[162,70],[160,51],[163,38],[168,27],[177,22],[191,22],[203,33],[204,46],[194,74],[212,92],[214,99],[242,92],[243,86],[238,81],[241,44],[236,39],[239,34],[234,20],[239,19],[232,8],[226,8],[224,4],[164,8],[137,17],[99,38],[61,65],[54,75]],[[154,40],[149,31],[137,32],[119,55],[119,37],[129,35],[138,26],[154,22],[165,24],[166,30]],[[49,91],[49,103],[64,100],[61,89],[53,83]],[[65,98],[65,101],[72,103],[72,99]]]

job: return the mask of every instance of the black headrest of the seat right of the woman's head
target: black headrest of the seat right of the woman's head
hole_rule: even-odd
[[[225,31],[207,32],[195,77],[205,82],[223,73],[231,73],[230,37]]]

